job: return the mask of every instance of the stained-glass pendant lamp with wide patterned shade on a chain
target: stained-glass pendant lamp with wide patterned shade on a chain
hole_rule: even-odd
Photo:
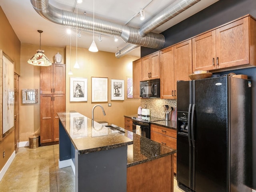
[[[40,48],[36,50],[36,54],[28,60],[29,64],[36,65],[36,66],[50,66],[52,63],[50,60],[45,56],[44,50],[41,49],[41,33],[42,30],[37,30],[40,33]]]

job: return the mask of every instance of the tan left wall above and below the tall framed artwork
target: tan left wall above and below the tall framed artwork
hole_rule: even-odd
[[[0,49],[14,61],[14,71],[20,74],[20,40],[0,7]],[[2,125],[0,125],[2,128]],[[5,157],[2,154],[5,151]],[[0,141],[0,170],[14,152],[14,131]]]

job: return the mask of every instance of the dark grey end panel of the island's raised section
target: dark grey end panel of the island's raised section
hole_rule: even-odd
[[[126,191],[127,146],[76,156],[76,192]]]

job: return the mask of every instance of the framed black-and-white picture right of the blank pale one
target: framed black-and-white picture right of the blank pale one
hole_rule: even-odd
[[[111,80],[111,100],[124,100],[124,80]]]

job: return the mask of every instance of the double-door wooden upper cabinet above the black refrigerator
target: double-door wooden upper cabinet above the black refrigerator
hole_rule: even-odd
[[[246,16],[192,38],[193,72],[256,65],[256,21]]]

